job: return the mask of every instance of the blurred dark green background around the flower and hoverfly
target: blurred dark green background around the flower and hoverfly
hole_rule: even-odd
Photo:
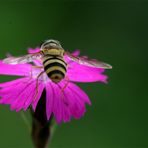
[[[53,38],[113,65],[107,85],[79,84],[92,106],[82,119],[58,127],[51,148],[148,148],[147,28],[146,0],[0,1],[1,59]],[[0,76],[0,82],[11,79]],[[2,105],[0,147],[33,147],[20,113]]]

